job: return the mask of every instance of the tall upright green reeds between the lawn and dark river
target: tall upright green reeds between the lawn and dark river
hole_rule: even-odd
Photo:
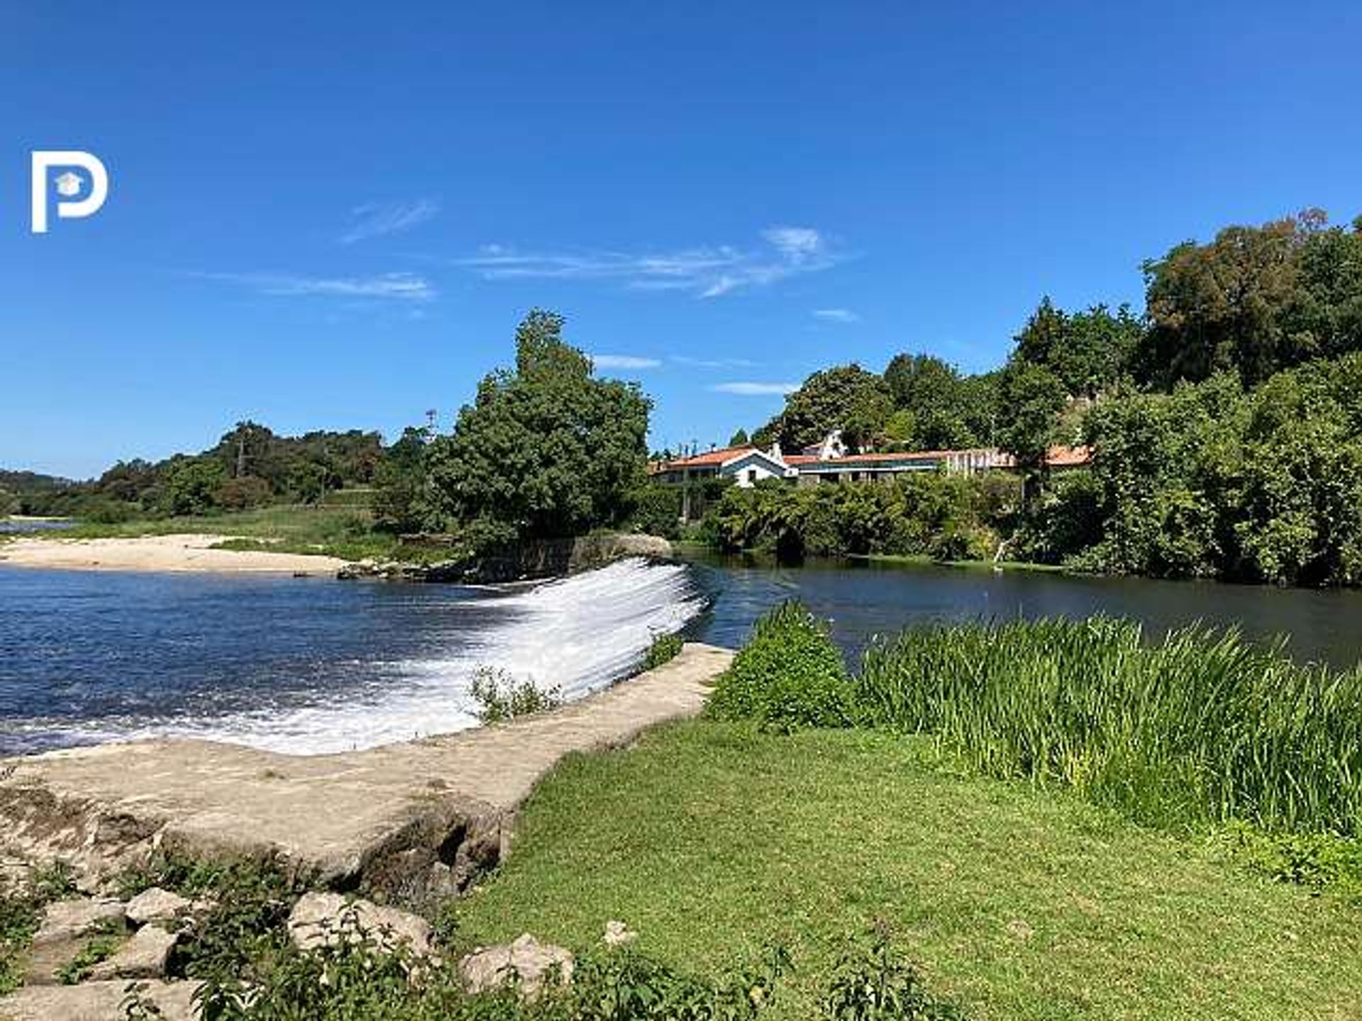
[[[1141,637],[1102,617],[913,628],[866,652],[857,719],[1151,825],[1362,834],[1362,670],[1233,630]]]

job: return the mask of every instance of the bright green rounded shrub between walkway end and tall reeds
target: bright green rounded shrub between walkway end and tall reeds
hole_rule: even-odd
[[[850,694],[842,653],[827,628],[799,603],[787,602],[757,621],[752,640],[715,683],[707,712],[779,731],[847,727]]]

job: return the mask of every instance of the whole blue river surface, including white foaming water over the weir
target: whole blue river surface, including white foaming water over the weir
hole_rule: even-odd
[[[651,637],[738,645],[802,599],[854,659],[914,621],[1107,613],[1362,656],[1362,594],[744,558],[616,564],[538,585],[49,572],[0,565],[0,754],[153,735],[339,751],[474,726],[481,667],[575,698]]]

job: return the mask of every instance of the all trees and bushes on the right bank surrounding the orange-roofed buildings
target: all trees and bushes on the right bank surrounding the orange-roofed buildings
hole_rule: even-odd
[[[978,483],[938,483],[944,512],[915,500],[917,481],[733,493],[711,534],[933,555],[1007,540],[1013,557],[1105,572],[1362,584],[1362,218],[1331,227],[1309,210],[1227,227],[1144,275],[1143,316],[1045,298],[998,370],[966,376],[928,354],[895,355],[883,374],[835,366],[753,437],[787,449],[832,429],[859,449],[996,445],[1031,483],[1020,498],[981,502]],[[1090,444],[1091,470],[1046,476],[1053,442]]]

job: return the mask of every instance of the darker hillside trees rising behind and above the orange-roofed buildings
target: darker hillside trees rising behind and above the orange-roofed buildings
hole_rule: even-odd
[[[1100,304],[1065,312],[1042,298],[994,372],[962,374],[930,354],[895,355],[883,373],[820,370],[753,440],[798,449],[842,429],[861,449],[1009,447],[1034,437],[1019,419],[1036,407],[1058,412],[1117,387],[1167,392],[1222,372],[1253,387],[1362,350],[1362,216],[1331,227],[1308,210],[1226,227],[1147,261],[1144,275],[1144,316]],[[1031,407],[1019,411],[1017,398]]]

